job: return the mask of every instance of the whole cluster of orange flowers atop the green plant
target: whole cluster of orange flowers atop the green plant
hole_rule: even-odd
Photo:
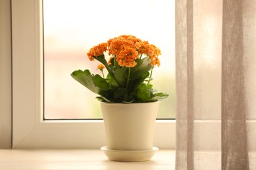
[[[160,66],[158,58],[161,55],[160,49],[154,44],[149,44],[148,41],[142,41],[133,35],[121,35],[108,40],[106,43],[98,44],[89,50],[87,56],[93,61],[94,58],[104,54],[106,51],[110,56],[116,58],[121,67],[135,67],[137,65],[135,60],[142,58],[142,55],[151,59],[153,67],[155,65]]]

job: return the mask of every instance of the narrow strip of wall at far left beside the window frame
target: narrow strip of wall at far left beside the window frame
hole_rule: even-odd
[[[11,148],[11,0],[0,0],[0,148]]]

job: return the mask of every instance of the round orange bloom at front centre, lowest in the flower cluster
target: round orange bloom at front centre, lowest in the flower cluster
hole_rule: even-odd
[[[137,65],[135,59],[137,58],[139,58],[137,50],[133,48],[127,48],[121,51],[118,56],[116,56],[116,61],[122,67],[135,67],[135,65]]]

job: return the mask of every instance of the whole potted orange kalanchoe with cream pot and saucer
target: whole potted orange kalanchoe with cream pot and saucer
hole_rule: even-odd
[[[154,124],[159,101],[168,96],[151,84],[153,69],[160,66],[160,54],[160,49],[148,41],[121,35],[87,53],[91,61],[100,61],[102,76],[88,69],[71,74],[98,94],[106,128],[106,146],[102,150],[109,160],[150,160],[158,149],[153,147]],[[108,75],[104,76],[103,69]]]

